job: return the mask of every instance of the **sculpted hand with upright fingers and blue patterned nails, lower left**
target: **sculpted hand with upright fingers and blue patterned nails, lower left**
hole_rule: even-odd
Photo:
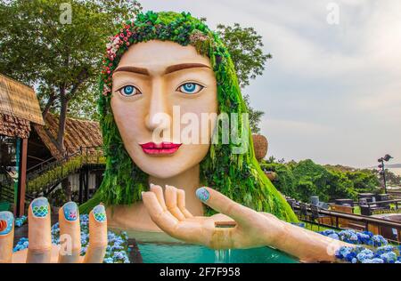
[[[69,202],[59,212],[61,246],[52,245],[50,205],[45,197],[32,201],[28,210],[29,247],[12,253],[13,215],[0,213],[0,262],[102,262],[107,247],[107,221],[103,205],[89,213],[89,246],[80,256],[81,234],[78,206]],[[3,228],[2,228],[3,225]]]

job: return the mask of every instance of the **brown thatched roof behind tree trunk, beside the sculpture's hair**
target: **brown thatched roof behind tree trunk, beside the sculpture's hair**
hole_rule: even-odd
[[[61,153],[54,142],[59,131],[59,117],[48,113],[45,117],[45,125],[34,125],[34,128],[53,157],[60,159]],[[74,153],[79,148],[102,147],[99,123],[68,117],[65,124],[64,147],[69,153]]]

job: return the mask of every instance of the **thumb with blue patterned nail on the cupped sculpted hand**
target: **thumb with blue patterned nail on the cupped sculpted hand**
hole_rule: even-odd
[[[206,205],[219,213],[224,213],[238,223],[247,224],[252,221],[258,212],[240,205],[220,192],[210,188],[196,190],[196,196]]]

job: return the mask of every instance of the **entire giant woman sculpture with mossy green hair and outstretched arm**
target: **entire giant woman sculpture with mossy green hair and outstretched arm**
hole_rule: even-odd
[[[104,204],[113,229],[164,231],[216,249],[273,246],[301,261],[335,260],[346,244],[292,225],[297,216],[261,171],[233,61],[202,20],[184,12],[140,13],[110,38],[102,62],[106,170],[81,213]],[[2,251],[0,240],[0,257]],[[101,256],[102,247],[92,253]]]

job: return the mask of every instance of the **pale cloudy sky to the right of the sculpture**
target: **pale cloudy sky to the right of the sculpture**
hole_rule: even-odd
[[[401,1],[142,0],[255,28],[273,55],[243,92],[265,111],[268,156],[370,167],[401,163]]]

